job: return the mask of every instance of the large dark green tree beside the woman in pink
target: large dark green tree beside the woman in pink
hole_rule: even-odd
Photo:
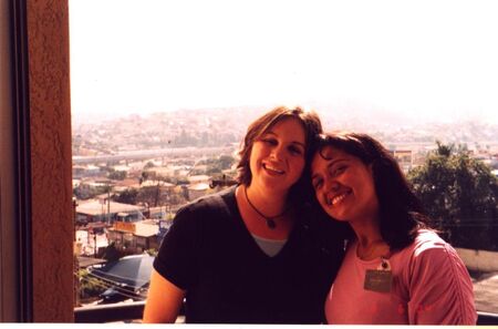
[[[498,250],[498,179],[465,147],[444,145],[408,174],[436,228],[454,246]]]

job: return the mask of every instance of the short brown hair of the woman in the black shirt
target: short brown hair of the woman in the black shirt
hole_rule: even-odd
[[[269,130],[271,130],[277,123],[286,120],[286,119],[295,119],[298,120],[302,127],[304,128],[305,136],[305,154],[304,160],[307,165],[310,162],[311,157],[311,144],[318,134],[322,133],[322,123],[320,117],[315,112],[304,111],[301,107],[289,109],[286,106],[276,107],[255,122],[252,122],[247,128],[246,136],[240,145],[239,156],[240,161],[237,165],[238,168],[238,177],[237,181],[239,184],[250,185],[252,179],[252,174],[249,168],[249,160],[251,156],[251,150],[255,142],[257,142],[263,134],[266,134]],[[303,174],[308,174],[309,171],[304,171]],[[304,175],[303,175],[304,176]],[[300,181],[302,181],[301,177]],[[295,185],[300,185],[298,182]],[[294,189],[292,186],[291,189]]]

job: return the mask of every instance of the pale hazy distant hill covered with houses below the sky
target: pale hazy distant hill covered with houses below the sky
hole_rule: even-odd
[[[370,133],[384,143],[470,143],[498,145],[498,125],[479,121],[430,123],[401,113],[354,106],[317,106],[325,131]],[[345,109],[345,110],[344,110]],[[240,143],[247,126],[266,112],[262,106],[184,109],[132,114],[96,123],[73,123],[73,151],[112,153],[120,150],[211,147]]]

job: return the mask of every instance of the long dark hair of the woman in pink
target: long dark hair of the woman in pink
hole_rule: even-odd
[[[372,166],[378,199],[380,230],[392,249],[402,249],[415,239],[418,229],[428,228],[428,218],[421,201],[394,156],[367,134],[341,132],[321,134],[314,143],[314,154],[328,160],[323,148],[332,146]]]

